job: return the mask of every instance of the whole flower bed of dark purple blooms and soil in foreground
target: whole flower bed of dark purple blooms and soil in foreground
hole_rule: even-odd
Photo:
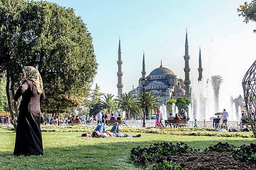
[[[149,148],[133,148],[131,160],[146,170],[247,170],[256,169],[256,145],[218,143],[204,152],[185,143],[156,143]]]

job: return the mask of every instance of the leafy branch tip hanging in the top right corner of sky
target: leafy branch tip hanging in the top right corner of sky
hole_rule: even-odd
[[[239,17],[244,17],[244,22],[248,23],[249,20],[256,22],[256,0],[253,0],[250,4],[247,2],[244,3],[244,5],[240,5],[239,8],[237,8],[237,12],[240,12]],[[253,30],[254,33],[256,33],[256,29]]]

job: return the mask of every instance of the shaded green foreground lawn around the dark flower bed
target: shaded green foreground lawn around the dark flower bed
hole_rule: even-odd
[[[150,137],[150,136],[148,136]],[[186,142],[194,149],[204,150],[209,145],[218,142],[229,142],[237,146],[241,144],[255,143],[255,139],[239,140],[218,138],[218,140],[207,140],[207,138],[191,138],[186,141],[170,138],[160,140],[138,141],[135,139],[127,142],[119,142],[119,139],[88,139],[83,138],[81,144],[67,147],[44,147],[44,156],[16,157],[12,152],[0,152],[0,167],[12,170],[132,170],[137,169],[130,161],[130,152],[133,147],[149,147],[157,142]],[[138,138],[140,139],[140,138]],[[204,139],[204,140],[203,140]],[[209,139],[209,138],[208,138]],[[93,140],[93,141],[92,141]],[[100,142],[93,144],[90,142]],[[52,144],[58,146],[58,143]]]

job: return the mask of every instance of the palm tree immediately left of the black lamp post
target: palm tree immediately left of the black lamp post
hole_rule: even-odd
[[[135,96],[132,96],[131,93],[121,94],[119,99],[116,99],[116,101],[119,103],[122,111],[127,113],[128,117],[130,117],[130,113],[134,117],[138,116],[138,113],[141,113],[139,101]]]

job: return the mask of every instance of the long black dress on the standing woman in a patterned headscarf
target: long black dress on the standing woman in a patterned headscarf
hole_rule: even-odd
[[[14,155],[43,155],[43,143],[40,129],[40,101],[45,99],[44,92],[39,94],[32,80],[25,79],[18,88],[14,100],[22,95],[19,116],[17,119],[17,131]]]

